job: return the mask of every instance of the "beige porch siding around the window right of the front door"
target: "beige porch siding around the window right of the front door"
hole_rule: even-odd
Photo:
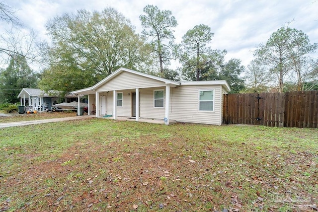
[[[164,90],[165,87],[143,88],[140,89],[140,118],[164,119],[165,109],[155,108],[154,106],[154,90]],[[165,104],[165,101],[164,101]]]

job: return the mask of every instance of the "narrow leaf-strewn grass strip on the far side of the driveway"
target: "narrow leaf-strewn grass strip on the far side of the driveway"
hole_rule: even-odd
[[[62,118],[62,117],[71,117],[76,116],[76,112],[43,112],[36,114],[11,114],[11,116],[0,116],[0,123],[7,122],[21,122],[21,121],[31,121],[31,120],[39,120],[39,119],[54,119],[54,118]]]

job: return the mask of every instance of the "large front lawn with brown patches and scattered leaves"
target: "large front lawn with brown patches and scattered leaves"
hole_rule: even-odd
[[[318,129],[89,119],[0,129],[0,211],[314,211]]]

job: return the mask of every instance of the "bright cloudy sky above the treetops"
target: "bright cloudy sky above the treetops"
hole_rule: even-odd
[[[2,0],[3,1],[3,0]],[[195,25],[206,24],[215,33],[213,49],[227,50],[226,60],[239,58],[243,65],[253,59],[255,46],[265,43],[282,26],[305,32],[311,43],[318,43],[318,0],[4,0],[18,9],[16,15],[26,27],[47,39],[45,24],[55,16],[78,9],[116,8],[141,33],[139,15],[147,4],[171,10],[178,26],[176,42]]]

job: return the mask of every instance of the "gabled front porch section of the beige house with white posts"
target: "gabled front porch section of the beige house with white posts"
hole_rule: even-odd
[[[88,96],[88,115],[97,118],[104,115],[111,119],[129,117],[162,121],[168,125],[171,88],[179,82],[120,68],[92,87],[73,91],[73,94]],[[135,119],[131,119],[134,117]]]

